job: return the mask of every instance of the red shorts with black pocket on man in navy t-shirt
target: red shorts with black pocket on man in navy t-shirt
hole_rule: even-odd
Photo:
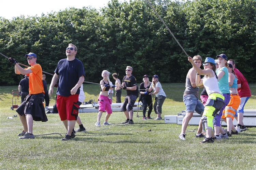
[[[60,120],[76,120],[78,116],[77,104],[79,94],[70,95],[68,97],[57,95],[56,106],[59,112]]]

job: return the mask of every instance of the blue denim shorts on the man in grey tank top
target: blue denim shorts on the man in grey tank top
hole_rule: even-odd
[[[183,96],[183,102],[186,105],[186,113],[196,111],[199,115],[203,114],[204,106],[195,95],[187,94]]]

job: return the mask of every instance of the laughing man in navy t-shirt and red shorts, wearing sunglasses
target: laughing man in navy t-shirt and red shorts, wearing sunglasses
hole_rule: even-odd
[[[69,44],[66,49],[67,58],[58,62],[49,88],[49,95],[52,95],[53,87],[59,79],[56,92],[56,105],[60,120],[67,129],[66,136],[61,140],[70,140],[75,137],[72,130],[75,127],[75,121],[78,116],[79,105],[77,102],[80,94],[80,86],[83,84],[85,78],[83,63],[75,58],[76,53],[76,46]]]

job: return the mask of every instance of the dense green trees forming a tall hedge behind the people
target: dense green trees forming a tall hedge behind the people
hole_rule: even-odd
[[[249,82],[255,82],[255,0],[151,0],[176,39],[190,56],[225,53]],[[0,52],[27,64],[34,52],[43,71],[53,73],[65,58],[69,43],[84,63],[85,81],[99,82],[102,70],[122,79],[127,65],[133,75],[159,75],[160,82],[185,82],[191,67],[187,56],[145,0],[112,0],[98,12],[69,8],[42,16],[0,18]],[[23,78],[1,56],[0,84],[18,84]],[[8,76],[6,76],[8,75]],[[249,76],[250,75],[250,76]],[[47,79],[48,83],[51,79]]]

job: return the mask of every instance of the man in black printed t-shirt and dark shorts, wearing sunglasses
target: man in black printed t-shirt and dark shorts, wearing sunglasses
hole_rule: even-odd
[[[133,117],[133,106],[136,99],[139,96],[139,89],[137,86],[136,78],[131,75],[132,67],[126,67],[126,76],[123,78],[122,89],[126,90],[126,97],[124,103],[121,105],[121,110],[126,116],[126,121],[122,122],[123,124],[134,124]]]

